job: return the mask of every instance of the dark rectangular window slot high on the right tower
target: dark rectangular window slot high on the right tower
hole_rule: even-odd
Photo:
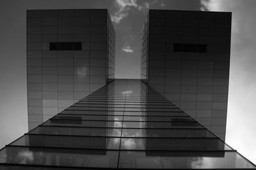
[[[200,45],[200,44],[179,44],[179,43],[173,44],[173,52],[205,53],[206,49],[207,49],[206,45]]]

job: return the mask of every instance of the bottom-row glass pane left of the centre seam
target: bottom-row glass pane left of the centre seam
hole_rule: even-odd
[[[42,162],[42,160],[45,159],[47,159],[47,161]],[[75,167],[117,167],[117,159],[118,152],[106,150],[72,150],[67,148],[34,149],[8,146],[0,152],[0,163],[11,164]]]

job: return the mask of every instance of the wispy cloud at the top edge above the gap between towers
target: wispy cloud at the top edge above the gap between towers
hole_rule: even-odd
[[[117,11],[111,15],[112,22],[119,24],[122,19],[129,15],[129,10],[139,10],[146,12],[152,4],[157,3],[157,0],[139,1],[137,0],[115,0]]]

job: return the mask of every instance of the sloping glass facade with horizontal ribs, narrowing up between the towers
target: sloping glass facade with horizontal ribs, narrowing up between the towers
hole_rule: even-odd
[[[141,80],[111,81],[0,151],[2,169],[42,167],[256,168]]]

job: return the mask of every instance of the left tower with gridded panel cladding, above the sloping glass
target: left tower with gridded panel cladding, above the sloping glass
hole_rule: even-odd
[[[115,72],[108,10],[28,10],[29,130],[106,85]]]

